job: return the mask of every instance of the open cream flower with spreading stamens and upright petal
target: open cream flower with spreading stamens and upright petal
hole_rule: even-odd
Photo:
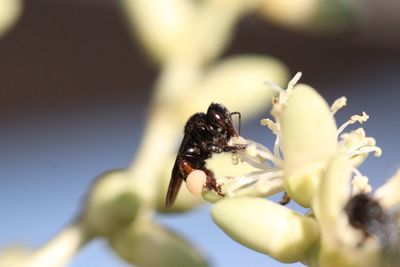
[[[238,155],[255,170],[234,178],[219,178],[218,183],[228,197],[265,197],[285,190],[300,205],[310,207],[317,194],[322,171],[336,151],[345,151],[352,161],[353,172],[360,179],[364,176],[356,167],[371,152],[380,156],[381,150],[375,140],[366,137],[362,128],[343,133],[348,125],[365,122],[368,119],[365,112],[351,116],[336,128],[333,115],[346,105],[346,98],[339,98],[329,107],[311,87],[296,85],[300,77],[301,73],[296,74],[286,90],[268,83],[278,92],[272,101],[274,119],[261,120],[261,124],[276,136],[272,151],[251,140],[231,140],[233,144],[247,143],[247,149]],[[370,190],[368,183],[361,185],[360,181],[357,184],[361,191]],[[368,178],[362,181],[368,181]],[[203,195],[211,199],[209,192]]]

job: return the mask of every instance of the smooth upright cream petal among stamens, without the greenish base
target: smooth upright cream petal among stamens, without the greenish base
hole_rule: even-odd
[[[285,171],[329,159],[337,149],[336,123],[325,100],[310,86],[297,85],[281,118]]]

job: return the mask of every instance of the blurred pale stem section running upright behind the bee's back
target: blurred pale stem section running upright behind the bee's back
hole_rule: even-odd
[[[182,75],[182,69],[191,74]],[[156,82],[155,97],[149,110],[143,140],[128,167],[134,186],[140,188],[142,197],[149,201],[146,203],[156,201],[160,170],[165,166],[166,159],[174,153],[176,137],[184,123],[179,107],[182,103],[182,90],[193,87],[197,77],[196,67],[166,65]]]

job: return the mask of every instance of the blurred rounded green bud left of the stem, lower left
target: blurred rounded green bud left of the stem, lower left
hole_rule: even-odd
[[[82,222],[94,235],[109,236],[134,221],[143,206],[123,170],[101,175],[94,183],[82,213]]]

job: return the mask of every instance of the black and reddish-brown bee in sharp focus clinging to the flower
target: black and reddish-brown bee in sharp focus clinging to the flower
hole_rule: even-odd
[[[169,183],[166,207],[174,203],[181,186],[182,180],[194,170],[202,170],[206,174],[206,187],[223,195],[221,188],[217,185],[214,173],[206,168],[206,159],[214,153],[235,153],[245,148],[245,145],[228,145],[231,137],[238,137],[231,115],[239,116],[240,113],[229,112],[221,104],[211,103],[207,114],[195,113],[186,122],[184,137],[179,148],[175,165],[172,169],[171,181]]]

